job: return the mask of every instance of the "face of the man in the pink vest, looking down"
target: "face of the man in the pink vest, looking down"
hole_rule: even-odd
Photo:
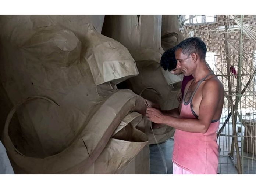
[[[180,69],[185,76],[191,75],[193,71],[192,59],[189,56],[183,54],[181,48],[175,52],[175,57],[177,60],[176,68]]]

